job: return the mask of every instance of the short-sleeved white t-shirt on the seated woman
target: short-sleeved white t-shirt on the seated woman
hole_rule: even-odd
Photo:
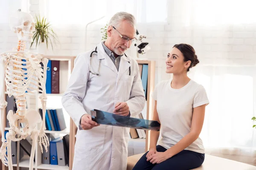
[[[161,139],[158,144],[169,149],[177,144],[191,129],[193,108],[209,104],[206,91],[192,79],[180,89],[171,87],[172,79],[164,80],[154,89],[157,113],[161,123]],[[186,150],[204,153],[204,145],[198,137]]]

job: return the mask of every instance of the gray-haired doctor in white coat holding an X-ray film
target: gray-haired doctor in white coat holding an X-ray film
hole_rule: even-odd
[[[145,105],[135,59],[125,55],[136,33],[135,18],[116,13],[108,24],[108,38],[79,54],[62,104],[79,127],[73,170],[126,170],[129,128],[97,125],[90,111],[98,109],[134,116]]]

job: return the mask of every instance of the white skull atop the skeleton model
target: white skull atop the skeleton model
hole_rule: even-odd
[[[31,14],[18,11],[10,18],[10,27],[17,33],[18,39],[25,42],[32,42],[33,31],[35,31],[35,22]]]

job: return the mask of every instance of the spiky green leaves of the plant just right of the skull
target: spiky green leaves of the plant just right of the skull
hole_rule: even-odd
[[[33,33],[33,42],[30,45],[30,48],[32,47],[33,43],[35,44],[35,47],[40,45],[41,43],[46,44],[46,48],[48,49],[48,44],[50,43],[52,46],[52,41],[55,43],[55,41],[58,41],[57,34],[50,28],[50,23],[46,21],[46,18],[43,17],[41,19],[40,15],[35,16],[35,31]],[[52,46],[53,49],[53,46]],[[45,50],[45,49],[43,49]]]

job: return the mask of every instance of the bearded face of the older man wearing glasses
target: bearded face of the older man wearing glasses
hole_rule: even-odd
[[[125,20],[121,21],[119,27],[114,26],[114,28],[113,26],[108,27],[108,38],[111,48],[110,50],[117,55],[123,55],[124,52],[130,48],[132,43],[131,39],[134,38],[136,31],[134,27]],[[129,40],[127,38],[129,38]]]

